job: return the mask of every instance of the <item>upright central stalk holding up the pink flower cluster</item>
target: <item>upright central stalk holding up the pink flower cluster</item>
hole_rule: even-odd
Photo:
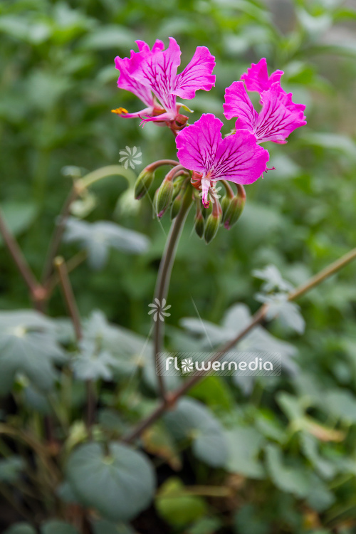
[[[184,222],[187,219],[187,214],[189,212],[190,206],[192,206],[192,194],[190,188],[188,187],[184,199],[182,201],[181,209],[177,217],[174,219],[169,235],[167,237],[166,246],[164,248],[164,253],[162,256],[161,263],[159,263],[159,269],[157,274],[157,282],[155,288],[155,302],[159,303],[159,307],[163,306],[163,300],[167,299],[167,293],[169,288],[169,281],[171,278],[172,267],[174,263],[175,254],[177,251],[177,246],[179,243],[179,238],[182,234],[182,229],[184,227]],[[155,328],[153,333],[154,339],[154,354],[155,362],[159,358],[159,352],[162,351],[163,338],[164,338],[164,322],[160,320],[158,309],[158,314],[156,315],[157,320],[155,321]],[[159,362],[157,362],[159,365]],[[164,388],[164,380],[161,375],[157,375],[159,383],[159,392],[162,399],[166,398],[166,392]]]

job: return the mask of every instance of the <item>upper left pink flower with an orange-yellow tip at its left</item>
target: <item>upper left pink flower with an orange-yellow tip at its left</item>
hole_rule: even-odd
[[[181,51],[174,38],[169,38],[169,47],[157,40],[150,50],[144,41],[136,41],[138,52],[131,51],[130,58],[115,58],[115,66],[120,70],[117,86],[134,93],[147,106],[135,113],[123,108],[112,110],[122,117],[140,117],[144,122],[156,121],[171,123],[178,119],[184,126],[187,117],[179,115],[179,98],[194,98],[199,89],[209,91],[215,84],[212,71],[215,66],[206,46],[198,46],[192,61],[182,73],[177,74]]]

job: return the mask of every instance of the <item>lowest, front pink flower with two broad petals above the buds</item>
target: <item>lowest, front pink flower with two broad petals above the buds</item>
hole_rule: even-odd
[[[209,188],[217,180],[251,184],[266,170],[268,152],[248,130],[222,137],[220,119],[206,113],[176,138],[179,162],[201,179],[203,205],[209,206]]]

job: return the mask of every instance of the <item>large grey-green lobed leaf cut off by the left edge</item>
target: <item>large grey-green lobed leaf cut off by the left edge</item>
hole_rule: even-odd
[[[32,310],[0,312],[0,394],[9,392],[18,374],[38,389],[50,389],[54,365],[63,360],[51,320]]]

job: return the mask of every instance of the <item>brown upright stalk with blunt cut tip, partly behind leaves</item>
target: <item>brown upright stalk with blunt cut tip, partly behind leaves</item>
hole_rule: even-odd
[[[68,313],[73,323],[75,337],[77,338],[77,341],[80,342],[80,340],[83,337],[82,328],[80,324],[80,315],[79,315],[77,303],[75,301],[73,288],[70,284],[66,262],[63,260],[63,258],[61,258],[61,256],[58,256],[55,259],[54,264],[58,272],[58,278],[59,278],[59,282],[61,283],[63,297],[64,297],[64,300],[66,301]],[[88,428],[88,434],[91,438],[92,436],[91,427],[95,419],[95,404],[96,404],[95,392],[94,392],[92,380],[86,381],[86,388],[87,388],[87,428]]]

